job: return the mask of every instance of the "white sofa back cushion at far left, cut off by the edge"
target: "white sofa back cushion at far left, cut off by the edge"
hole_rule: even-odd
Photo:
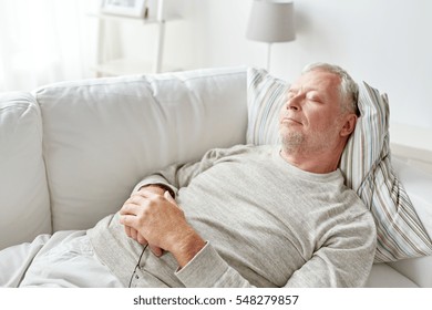
[[[39,106],[29,93],[0,94],[0,249],[51,232]]]

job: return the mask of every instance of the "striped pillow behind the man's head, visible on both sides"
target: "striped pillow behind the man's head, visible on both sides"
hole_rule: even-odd
[[[278,114],[288,86],[265,70],[248,69],[248,143],[279,143]],[[361,116],[343,151],[340,169],[376,220],[374,261],[432,255],[432,241],[391,166],[387,94],[364,82],[359,89]]]

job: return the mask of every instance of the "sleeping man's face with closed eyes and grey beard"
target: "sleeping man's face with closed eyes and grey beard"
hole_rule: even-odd
[[[339,83],[338,75],[315,70],[290,86],[279,117],[286,151],[320,152],[339,141]]]

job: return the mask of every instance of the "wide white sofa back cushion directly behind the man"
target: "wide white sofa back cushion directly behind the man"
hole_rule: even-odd
[[[245,143],[245,68],[64,82],[34,96],[54,231],[92,227],[168,164]]]

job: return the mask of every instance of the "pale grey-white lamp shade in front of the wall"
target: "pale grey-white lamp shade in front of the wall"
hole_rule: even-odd
[[[294,3],[254,0],[246,38],[269,43],[295,40]]]

